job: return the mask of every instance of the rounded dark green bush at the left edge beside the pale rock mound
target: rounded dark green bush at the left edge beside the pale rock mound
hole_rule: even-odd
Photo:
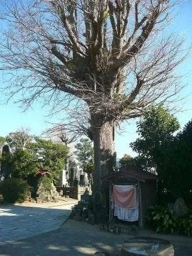
[[[29,184],[24,179],[7,178],[0,183],[0,194],[5,202],[24,202],[29,194]]]

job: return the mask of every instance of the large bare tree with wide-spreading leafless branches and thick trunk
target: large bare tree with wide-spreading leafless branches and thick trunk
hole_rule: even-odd
[[[71,103],[79,127],[89,123],[95,194],[110,171],[116,124],[141,116],[150,104],[169,102],[181,89],[174,70],[183,60],[182,40],[162,34],[173,4],[18,0],[1,16],[1,69],[15,76],[10,96],[19,93],[26,106],[38,97],[54,102],[53,109]]]

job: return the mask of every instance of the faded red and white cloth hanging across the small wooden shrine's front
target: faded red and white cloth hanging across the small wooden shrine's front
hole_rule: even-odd
[[[114,216],[118,217],[119,220],[137,221],[138,202],[136,186],[113,184],[111,207],[114,210]]]

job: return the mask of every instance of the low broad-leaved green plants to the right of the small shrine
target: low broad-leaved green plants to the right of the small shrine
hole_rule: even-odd
[[[146,216],[146,221],[156,232],[167,232],[172,234],[184,234],[192,236],[192,211],[187,215],[176,217],[168,207],[151,207]]]

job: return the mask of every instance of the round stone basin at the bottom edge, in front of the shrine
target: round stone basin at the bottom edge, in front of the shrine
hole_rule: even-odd
[[[134,237],[123,242],[121,256],[150,255],[173,256],[174,248],[171,242],[155,237]]]

